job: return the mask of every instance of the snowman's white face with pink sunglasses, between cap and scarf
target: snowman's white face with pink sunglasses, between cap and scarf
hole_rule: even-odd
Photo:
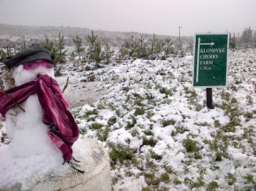
[[[14,67],[13,78],[16,85],[26,84],[42,75],[54,77],[54,65],[47,60],[36,60]]]

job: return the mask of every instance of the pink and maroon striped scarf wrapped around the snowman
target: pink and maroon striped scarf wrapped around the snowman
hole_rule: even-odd
[[[56,80],[47,75],[39,77],[5,91],[21,104],[30,95],[37,93],[42,108],[42,122],[49,126],[48,135],[56,147],[62,151],[64,161],[72,159],[72,145],[79,138],[79,127],[68,110],[68,103]],[[15,107],[15,104],[0,92],[0,113]]]

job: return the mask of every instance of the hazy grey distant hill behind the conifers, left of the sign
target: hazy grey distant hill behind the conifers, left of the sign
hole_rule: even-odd
[[[11,26],[0,24],[0,48],[11,46],[11,44],[20,43],[23,36],[31,43],[40,43],[47,35],[49,39],[56,39],[58,33],[64,36],[67,46],[72,46],[72,38],[76,35],[82,38],[83,44],[87,44],[87,35],[92,33],[91,29],[79,27],[63,27],[63,26]],[[153,38],[153,34],[148,33],[128,33],[128,32],[109,32],[109,31],[94,31],[98,35],[98,40],[103,44],[109,43],[112,47],[121,47],[125,41],[129,41],[132,36],[139,39],[142,36],[145,40]],[[159,40],[165,39],[167,35],[156,35]],[[169,36],[174,42],[177,42],[178,37]],[[183,42],[189,43],[192,37],[181,37]]]

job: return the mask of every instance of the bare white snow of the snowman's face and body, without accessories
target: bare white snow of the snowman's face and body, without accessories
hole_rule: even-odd
[[[35,80],[38,75],[54,77],[54,70],[41,66],[35,70],[24,70],[23,65],[19,65],[13,72],[16,86]],[[11,143],[0,157],[0,172],[4,172],[4,168],[9,170],[1,174],[0,185],[10,187],[15,183],[14,187],[27,189],[40,176],[61,175],[70,169],[68,165],[62,165],[62,153],[49,139],[37,94],[29,96],[20,106],[25,113],[15,108],[16,116],[11,110],[6,114],[5,129]]]

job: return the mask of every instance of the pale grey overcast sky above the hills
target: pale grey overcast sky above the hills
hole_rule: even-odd
[[[0,0],[0,23],[192,36],[256,30],[256,0]]]

